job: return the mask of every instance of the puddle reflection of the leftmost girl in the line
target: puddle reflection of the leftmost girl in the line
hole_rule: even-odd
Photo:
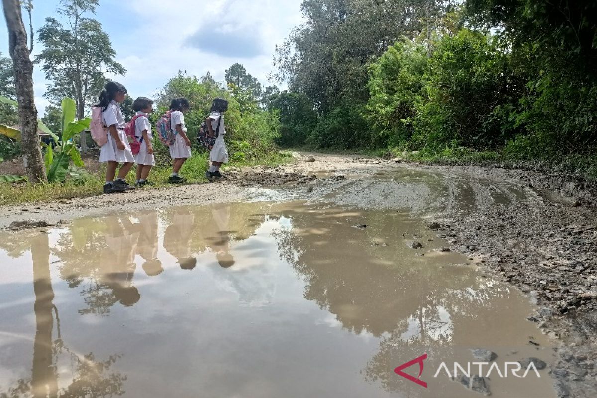
[[[138,229],[128,218],[110,218],[107,221],[106,245],[109,251],[101,256],[103,282],[125,307],[133,306],[141,298],[133,286],[138,240]]]

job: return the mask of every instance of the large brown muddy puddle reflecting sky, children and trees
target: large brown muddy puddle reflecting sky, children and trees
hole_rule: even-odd
[[[304,203],[2,235],[0,396],[477,397],[441,362],[549,363],[521,295],[444,245],[402,212]],[[425,353],[427,388],[395,374]],[[487,387],[551,397],[546,372]]]

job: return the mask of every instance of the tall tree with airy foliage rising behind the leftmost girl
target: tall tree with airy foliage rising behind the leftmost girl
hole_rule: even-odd
[[[74,98],[78,119],[85,118],[85,107],[91,106],[106,83],[105,72],[124,75],[126,70],[115,61],[116,51],[101,23],[86,14],[95,14],[99,0],[62,0],[56,18],[46,18],[39,29],[44,50],[36,57],[42,64],[48,85],[45,96],[59,104],[63,97]],[[87,150],[85,134],[81,149]]]

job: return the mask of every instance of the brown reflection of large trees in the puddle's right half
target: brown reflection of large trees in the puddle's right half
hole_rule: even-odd
[[[388,391],[404,392],[393,369],[405,358],[434,347],[447,353],[463,326],[496,310],[495,299],[504,295],[467,268],[416,257],[402,236],[416,230],[412,220],[338,209],[284,215],[293,229],[276,233],[279,252],[306,281],[304,297],[336,315],[343,328],[381,339],[365,377]],[[354,220],[367,229],[354,228]],[[372,246],[380,240],[389,245]]]

